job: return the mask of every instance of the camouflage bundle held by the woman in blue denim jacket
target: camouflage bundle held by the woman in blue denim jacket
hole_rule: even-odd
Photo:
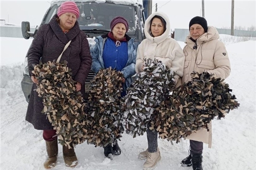
[[[112,68],[101,69],[91,80],[85,138],[88,144],[106,146],[121,136],[120,106],[123,74]]]

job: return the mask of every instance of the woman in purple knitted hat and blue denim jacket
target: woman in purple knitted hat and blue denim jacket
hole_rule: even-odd
[[[129,37],[128,22],[124,17],[115,17],[110,23],[111,31],[96,37],[96,44],[91,50],[92,71],[97,74],[103,68],[115,68],[123,75],[123,92],[121,96],[126,95],[126,89],[132,83],[132,76],[135,72],[137,45],[134,38]],[[117,141],[104,147],[104,155],[112,158],[113,154],[121,154],[121,149]]]

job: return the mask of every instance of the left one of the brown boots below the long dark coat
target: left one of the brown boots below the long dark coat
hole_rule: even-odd
[[[58,156],[58,140],[57,139],[50,142],[46,141],[46,152],[47,152],[47,158],[44,163],[44,167],[46,169],[55,167],[57,162],[57,156]]]

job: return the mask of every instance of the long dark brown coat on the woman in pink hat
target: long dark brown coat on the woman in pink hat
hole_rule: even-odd
[[[62,31],[55,15],[49,24],[40,26],[37,34],[28,50],[28,68],[29,74],[33,70],[33,64],[39,64],[42,57],[42,63],[57,60],[62,53],[64,46],[70,40],[71,43],[64,51],[62,60],[68,61],[68,67],[72,69],[73,80],[82,84],[81,93],[84,96],[84,83],[91,69],[91,54],[89,43],[84,32],[79,28],[78,22],[66,34]],[[43,110],[43,101],[38,97],[36,84],[33,84],[27,107],[26,120],[33,124],[38,130],[53,129],[46,115],[41,113]]]

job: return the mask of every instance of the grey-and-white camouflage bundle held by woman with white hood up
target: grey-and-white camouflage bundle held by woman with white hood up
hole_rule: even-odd
[[[174,88],[174,73],[157,59],[145,60],[144,71],[128,88],[122,111],[122,131],[136,137],[143,135],[155,109]],[[156,113],[157,114],[157,113]],[[154,117],[154,116],[153,116]]]

